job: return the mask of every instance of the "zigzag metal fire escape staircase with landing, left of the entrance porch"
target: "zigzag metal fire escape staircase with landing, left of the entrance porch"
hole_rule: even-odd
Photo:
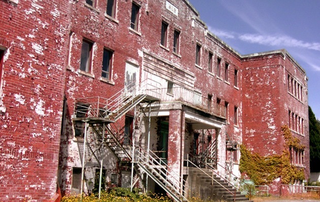
[[[85,150],[89,151],[84,155],[86,161],[92,162],[92,159],[95,159],[100,163],[99,154],[102,154],[102,148],[107,145],[119,160],[135,163],[142,173],[146,173],[167,191],[172,199],[181,202],[187,199],[184,197],[185,181],[179,175],[171,173],[168,165],[152,151],[145,151],[132,143],[120,142],[123,131],[117,120],[143,101],[159,100],[154,96],[157,95],[156,89],[153,87],[150,90],[146,86],[150,87],[150,85],[143,87],[131,85],[130,88],[126,87],[109,99],[101,97],[77,99],[73,122],[88,124],[85,127],[87,130],[85,133],[88,133],[88,136],[83,140],[87,145]],[[76,114],[81,115],[77,117]]]

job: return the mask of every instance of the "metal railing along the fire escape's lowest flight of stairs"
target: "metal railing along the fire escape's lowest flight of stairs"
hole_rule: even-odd
[[[168,171],[168,165],[165,161],[158,157],[155,153],[149,150],[149,153],[139,146],[136,146],[134,160],[137,161],[140,167],[147,167],[151,173],[149,175],[156,174],[164,185],[169,188],[170,195],[179,195],[183,200],[187,200],[185,195],[187,192],[185,190],[185,180],[181,178],[179,174],[172,173]]]

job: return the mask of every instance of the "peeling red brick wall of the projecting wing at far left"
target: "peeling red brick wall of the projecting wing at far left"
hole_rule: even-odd
[[[0,201],[43,201],[56,192],[69,3],[10,2],[0,2]]]

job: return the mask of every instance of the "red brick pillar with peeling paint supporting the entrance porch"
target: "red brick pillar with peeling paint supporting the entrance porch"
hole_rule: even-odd
[[[176,179],[183,169],[184,151],[184,113],[182,110],[170,110],[168,136],[168,170],[176,174]]]

